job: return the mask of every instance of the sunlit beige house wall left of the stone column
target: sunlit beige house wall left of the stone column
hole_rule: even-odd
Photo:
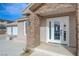
[[[12,37],[12,40],[14,40],[16,42],[27,43],[26,42],[27,34],[24,33],[24,21],[17,22],[17,26],[9,26],[9,27],[12,27],[12,28],[17,27],[17,35],[8,34],[6,32],[7,40],[10,40],[10,38]]]

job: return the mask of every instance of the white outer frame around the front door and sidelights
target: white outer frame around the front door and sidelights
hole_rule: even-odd
[[[55,17],[55,18],[67,18],[68,19],[68,25],[69,25],[69,16],[61,16],[61,17]],[[48,28],[48,21],[51,21],[51,19],[54,19],[54,18],[48,18],[47,20],[46,20],[46,42],[47,43],[49,43],[49,28]],[[69,29],[69,26],[68,26],[68,28],[67,29]],[[67,45],[69,46],[69,30],[68,30],[68,39],[67,39]]]

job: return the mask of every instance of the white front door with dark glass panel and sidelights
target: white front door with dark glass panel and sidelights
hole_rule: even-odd
[[[47,19],[47,42],[68,44],[69,17]]]

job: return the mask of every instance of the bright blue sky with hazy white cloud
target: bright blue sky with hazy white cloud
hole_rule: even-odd
[[[0,3],[0,19],[15,21],[26,7],[27,3]]]

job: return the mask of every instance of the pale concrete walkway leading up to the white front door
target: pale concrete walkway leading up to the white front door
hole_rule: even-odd
[[[74,48],[70,48],[70,50],[75,52]],[[73,56],[73,54],[62,45],[41,43],[34,49],[31,56]]]

